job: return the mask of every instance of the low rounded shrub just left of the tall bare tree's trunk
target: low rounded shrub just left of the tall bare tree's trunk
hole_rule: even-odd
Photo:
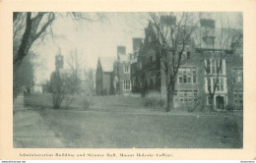
[[[161,95],[160,92],[149,92],[144,97],[144,106],[146,107],[164,107],[166,103],[165,96]]]

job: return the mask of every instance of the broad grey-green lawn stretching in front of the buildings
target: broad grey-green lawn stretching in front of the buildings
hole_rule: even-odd
[[[165,113],[142,106],[131,96],[90,97],[85,111],[54,110],[45,95],[27,98],[29,106],[69,148],[241,148],[242,115]],[[80,109],[79,109],[80,108]],[[199,116],[198,116],[199,115]],[[38,146],[39,147],[39,146]]]

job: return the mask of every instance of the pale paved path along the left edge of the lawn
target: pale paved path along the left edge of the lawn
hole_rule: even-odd
[[[44,123],[38,110],[29,110],[24,106],[24,96],[19,95],[14,102],[13,142],[15,148],[63,147]]]

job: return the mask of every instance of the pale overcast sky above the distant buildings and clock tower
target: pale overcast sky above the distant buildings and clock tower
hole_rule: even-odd
[[[92,13],[94,15],[94,13]],[[132,52],[132,38],[144,37],[147,21],[142,13],[107,13],[103,21],[74,22],[69,18],[57,18],[53,23],[54,41],[44,39],[33,45],[33,50],[43,60],[43,69],[35,72],[36,82],[49,81],[55,69],[55,55],[58,48],[67,59],[70,51],[77,50],[84,58],[84,68],[96,69],[98,56],[116,57],[118,45],[126,46],[126,53]],[[224,13],[225,19],[234,22],[234,15]],[[210,16],[206,16],[210,17]],[[67,67],[66,60],[64,68]]]

